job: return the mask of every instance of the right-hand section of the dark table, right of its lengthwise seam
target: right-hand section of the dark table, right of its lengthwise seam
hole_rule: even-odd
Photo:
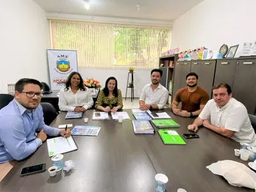
[[[129,113],[131,120],[135,120],[131,110],[126,109],[125,111]],[[180,128],[173,129],[180,136],[182,133],[192,133],[187,128],[195,118],[174,115],[170,109],[163,109],[159,112],[164,111],[180,125]],[[238,161],[248,166],[248,161],[243,161],[234,155],[234,148],[239,148],[239,143],[204,127],[199,128],[197,134],[200,138],[186,139],[182,136],[186,145],[164,145],[157,132],[147,136],[136,134],[147,151],[156,172],[164,173],[168,177],[166,190],[177,191],[177,189],[183,188],[188,192],[254,191],[231,186],[223,177],[214,175],[206,168],[206,166],[222,160]]]

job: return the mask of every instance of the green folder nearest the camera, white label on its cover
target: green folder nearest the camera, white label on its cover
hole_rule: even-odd
[[[158,131],[158,133],[164,144],[186,145],[185,141],[182,140],[182,138],[179,136],[179,134],[175,130],[161,129]]]

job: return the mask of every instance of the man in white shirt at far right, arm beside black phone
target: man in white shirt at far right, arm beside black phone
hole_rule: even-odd
[[[227,83],[214,86],[212,97],[188,129],[196,132],[198,126],[204,125],[227,138],[256,146],[256,134],[247,110],[241,102],[232,98],[230,86]]]

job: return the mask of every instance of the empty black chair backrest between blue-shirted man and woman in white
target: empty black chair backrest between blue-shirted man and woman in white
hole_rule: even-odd
[[[41,102],[41,106],[44,112],[44,123],[50,125],[52,121],[58,116],[56,109],[49,102]]]

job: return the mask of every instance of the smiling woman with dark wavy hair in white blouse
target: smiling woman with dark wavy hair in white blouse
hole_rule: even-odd
[[[72,72],[68,76],[66,87],[60,90],[60,110],[83,112],[92,108],[92,106],[91,92],[84,87],[81,75],[78,72]]]

